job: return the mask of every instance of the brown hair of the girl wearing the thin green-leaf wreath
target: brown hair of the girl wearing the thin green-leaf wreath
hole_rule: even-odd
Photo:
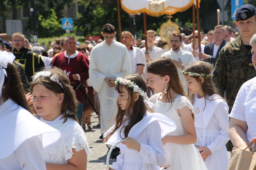
[[[198,74],[211,74],[212,70],[213,70],[212,64],[210,64],[208,62],[204,62],[204,61],[197,61],[197,62],[189,64],[185,68],[184,71],[185,72],[191,72],[191,73],[198,73]],[[204,78],[203,83],[201,83],[201,80],[199,79],[199,77],[200,76],[193,76],[193,78],[195,78],[195,80],[202,87],[202,92],[203,92],[203,95],[204,95],[205,105],[206,105],[206,99],[209,100],[210,96],[212,96],[214,94],[219,95],[219,93],[218,93],[216,87],[214,86],[214,84],[212,83],[210,78]],[[220,96],[220,98],[222,98],[222,97]],[[195,94],[189,93],[189,99],[190,99],[191,103],[194,104]]]

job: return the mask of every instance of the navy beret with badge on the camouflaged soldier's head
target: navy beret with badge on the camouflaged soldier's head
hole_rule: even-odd
[[[242,5],[237,9],[236,21],[245,21],[256,14],[256,8],[251,4]]]

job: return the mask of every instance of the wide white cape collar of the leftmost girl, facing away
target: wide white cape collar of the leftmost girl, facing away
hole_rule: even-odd
[[[61,133],[36,119],[29,111],[8,99],[0,105],[0,159],[12,154],[27,139],[42,135],[46,147],[61,137]]]

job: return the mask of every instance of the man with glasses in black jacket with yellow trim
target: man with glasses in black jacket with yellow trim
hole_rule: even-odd
[[[39,62],[40,64],[38,63],[38,56],[35,53],[24,48],[24,41],[24,35],[20,32],[12,34],[12,42],[14,44],[13,55],[15,56],[15,60],[24,67],[27,79],[30,82],[32,81],[31,76],[39,71],[41,67],[45,67],[45,65],[42,61]]]

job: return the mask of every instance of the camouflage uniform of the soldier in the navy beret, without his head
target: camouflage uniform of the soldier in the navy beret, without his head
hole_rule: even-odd
[[[242,84],[256,76],[255,68],[249,66],[248,56],[252,56],[251,51],[246,49],[240,36],[225,45],[219,53],[212,81],[220,95],[227,99],[229,113]],[[232,151],[234,146],[229,141],[226,147]]]

